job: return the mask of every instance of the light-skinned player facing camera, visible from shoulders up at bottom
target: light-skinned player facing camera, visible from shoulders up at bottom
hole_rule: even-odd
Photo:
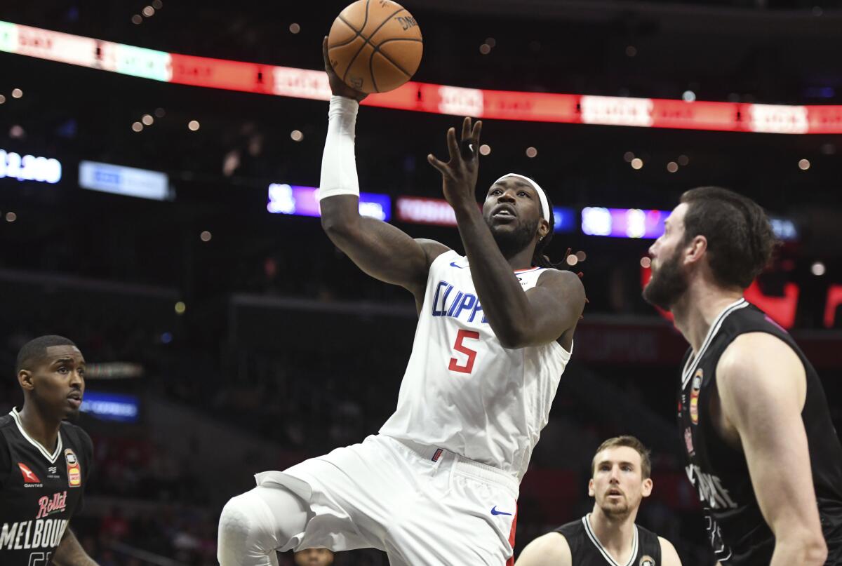
[[[681,566],[667,539],[634,522],[652,494],[651,471],[649,451],[634,436],[603,442],[591,462],[593,512],[530,542],[515,566]]]

